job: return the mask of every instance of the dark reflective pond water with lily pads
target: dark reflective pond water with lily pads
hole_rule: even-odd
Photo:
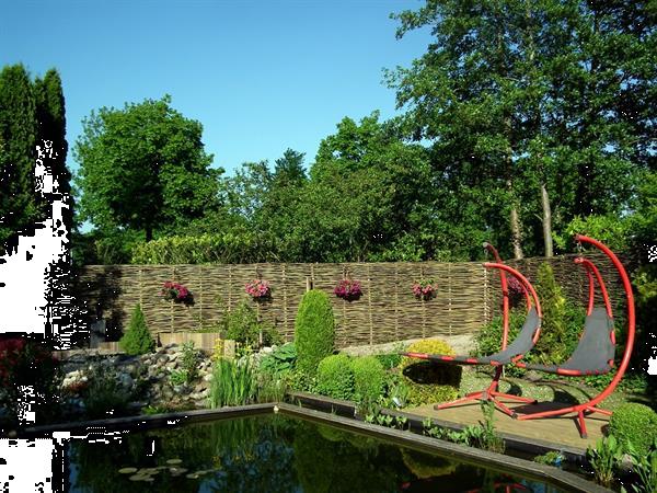
[[[71,440],[71,492],[535,492],[562,490],[280,415]]]

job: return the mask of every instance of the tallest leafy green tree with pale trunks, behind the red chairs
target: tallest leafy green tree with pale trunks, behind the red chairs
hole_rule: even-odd
[[[389,73],[407,131],[430,140],[462,198],[508,214],[516,256],[552,254],[553,228],[575,214],[618,213],[652,159],[648,3],[429,0],[396,16],[399,36],[430,26],[436,39]]]

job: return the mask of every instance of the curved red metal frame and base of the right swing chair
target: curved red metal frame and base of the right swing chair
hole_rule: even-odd
[[[632,355],[632,349],[634,347],[635,312],[634,312],[634,296],[632,294],[632,285],[630,284],[630,277],[627,276],[627,272],[625,271],[625,267],[623,267],[623,264],[621,263],[621,261],[619,261],[618,256],[615,256],[615,254],[603,243],[601,243],[598,240],[593,240],[592,238],[588,238],[588,237],[585,237],[581,234],[576,234],[575,241],[577,241],[578,243],[591,244],[591,245],[596,246],[598,250],[602,251],[602,253],[604,253],[609,257],[609,260],[612,262],[613,266],[616,268],[619,275],[621,276],[621,280],[623,282],[623,289],[625,290],[625,300],[627,303],[627,339],[626,339],[626,343],[625,343],[625,352],[623,353],[623,358],[621,360],[621,364],[619,365],[616,374],[614,375],[614,377],[611,380],[611,382],[609,383],[609,386],[607,386],[607,388],[604,390],[602,390],[598,395],[588,400],[587,402],[584,402],[584,403],[577,404],[577,405],[563,408],[563,409],[544,411],[544,412],[539,412],[539,413],[521,414],[521,415],[514,413],[512,416],[518,420],[537,420],[537,419],[541,419],[541,417],[551,417],[551,416],[558,416],[562,414],[577,413],[579,434],[583,438],[586,438],[587,437],[586,423],[585,423],[586,414],[601,413],[601,414],[606,414],[606,415],[611,415],[610,411],[598,408],[598,404],[600,402],[602,402],[604,399],[607,399],[614,391],[614,389],[616,388],[616,386],[623,378],[625,370],[627,369],[627,365],[630,364],[630,356]],[[590,261],[587,261],[586,259],[578,260],[577,262],[581,263],[586,267],[587,276],[589,278],[589,302],[588,302],[589,313],[592,310],[592,305],[593,305],[592,276],[595,275],[598,280],[598,285],[600,286],[602,297],[604,299],[604,305],[607,307],[607,313],[611,317],[612,316],[611,302],[609,300],[609,295],[607,293],[607,288],[604,286],[604,282],[602,280],[602,276],[600,275],[600,272],[596,268],[596,266]],[[518,365],[518,366],[521,366],[521,365]]]

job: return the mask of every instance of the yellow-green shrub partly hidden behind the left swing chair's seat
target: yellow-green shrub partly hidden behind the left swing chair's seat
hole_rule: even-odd
[[[407,351],[411,353],[454,354],[449,344],[437,339],[417,341],[411,344]],[[400,371],[408,387],[406,397],[408,405],[447,402],[457,398],[461,382],[461,367],[459,366],[435,365],[427,360],[404,356],[400,363]]]

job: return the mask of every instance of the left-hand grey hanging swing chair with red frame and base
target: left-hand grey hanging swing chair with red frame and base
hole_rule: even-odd
[[[448,356],[438,354],[426,354],[426,353],[402,353],[404,356],[428,359],[436,363],[456,364],[456,365],[488,365],[495,367],[495,374],[491,385],[481,391],[469,393],[468,395],[457,399],[456,401],[446,402],[442,404],[436,404],[434,409],[440,410],[450,408],[452,405],[463,404],[468,401],[491,401],[495,406],[508,414],[514,415],[514,411],[510,410],[502,399],[511,400],[523,403],[535,403],[535,399],[530,399],[521,395],[503,393],[497,390],[499,385],[499,378],[502,377],[503,367],[505,365],[512,365],[518,362],[522,356],[529,352],[535,344],[541,332],[541,305],[539,297],[533,286],[515,268],[503,264],[499,254],[493,245],[484,243],[484,249],[491,252],[496,262],[485,263],[486,268],[497,268],[499,271],[499,280],[503,293],[503,337],[502,337],[502,349],[489,356],[472,357],[472,356]],[[516,279],[520,282],[522,287],[525,300],[527,303],[527,317],[522,329],[516,336],[516,339],[507,345],[508,331],[509,331],[509,291],[508,282],[506,274],[511,274]]]

